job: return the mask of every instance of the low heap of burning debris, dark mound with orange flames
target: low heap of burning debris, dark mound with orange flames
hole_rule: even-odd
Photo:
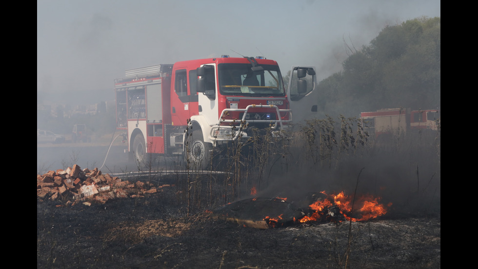
[[[387,213],[380,197],[364,195],[357,198],[344,192],[329,195],[325,191],[310,193],[299,207],[286,202],[287,198],[253,198],[228,204],[214,210],[214,219],[252,228],[274,228],[303,223],[368,221]],[[304,206],[300,207],[300,206]],[[308,206],[307,206],[308,205]]]

